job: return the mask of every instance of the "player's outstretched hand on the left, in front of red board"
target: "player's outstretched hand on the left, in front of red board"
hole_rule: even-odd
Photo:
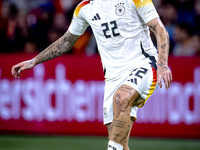
[[[31,69],[36,65],[36,61],[34,59],[27,60],[24,62],[21,62],[15,66],[12,67],[11,73],[15,78],[20,78],[20,73],[24,70]]]

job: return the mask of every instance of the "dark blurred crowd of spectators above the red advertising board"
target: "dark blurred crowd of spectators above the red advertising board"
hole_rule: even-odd
[[[66,32],[80,1],[1,0],[0,52],[42,51]],[[170,54],[199,56],[200,0],[153,2],[169,33]],[[191,29],[194,29],[195,35]],[[87,56],[98,54],[96,41],[90,30],[86,30],[69,53]],[[151,34],[151,37],[156,45],[155,36]]]

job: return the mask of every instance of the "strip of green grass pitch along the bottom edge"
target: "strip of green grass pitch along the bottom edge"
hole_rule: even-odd
[[[200,150],[200,140],[131,138],[130,150]],[[0,136],[0,150],[107,150],[107,137]]]

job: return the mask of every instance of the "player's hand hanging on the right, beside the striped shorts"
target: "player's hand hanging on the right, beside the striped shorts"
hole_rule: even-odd
[[[160,88],[162,88],[161,79],[164,80],[165,87],[168,90],[170,87],[170,84],[172,83],[172,73],[168,66],[158,67],[157,81]]]

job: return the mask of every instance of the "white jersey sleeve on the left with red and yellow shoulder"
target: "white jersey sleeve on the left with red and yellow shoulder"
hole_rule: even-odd
[[[74,35],[82,35],[87,27],[88,22],[84,19],[83,8],[89,4],[89,1],[81,2],[75,9],[72,22],[69,26],[69,32]]]

